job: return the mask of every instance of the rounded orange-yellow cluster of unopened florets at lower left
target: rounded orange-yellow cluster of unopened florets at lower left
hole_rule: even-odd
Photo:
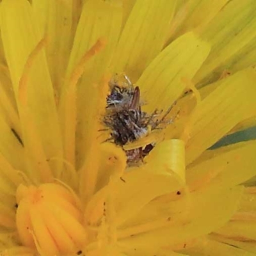
[[[58,184],[20,185],[17,189],[20,241],[42,255],[81,252],[87,242],[79,201]]]

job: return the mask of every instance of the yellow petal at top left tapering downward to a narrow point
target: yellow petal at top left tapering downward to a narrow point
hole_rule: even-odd
[[[60,93],[71,48],[73,1],[33,1],[33,10],[41,28],[41,37],[47,35],[47,61],[55,93]]]

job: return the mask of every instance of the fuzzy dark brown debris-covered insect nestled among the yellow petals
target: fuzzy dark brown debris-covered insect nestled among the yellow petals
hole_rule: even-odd
[[[150,132],[150,127],[157,129],[163,122],[163,118],[157,119],[157,111],[151,115],[141,111],[140,88],[134,86],[129,77],[124,78],[125,82],[122,84],[115,79],[109,82],[110,93],[106,99],[106,115],[103,119],[106,127],[111,130],[110,140],[121,147],[143,138]],[[127,163],[131,165],[143,161],[152,148],[154,145],[150,143],[144,148],[125,150]]]

